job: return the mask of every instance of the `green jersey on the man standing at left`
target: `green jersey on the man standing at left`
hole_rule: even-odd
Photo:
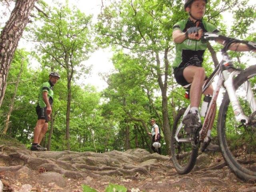
[[[52,106],[53,102],[53,84],[50,82],[44,82],[39,88],[39,96],[38,96],[38,105],[40,107],[46,107],[46,104],[43,100],[43,92],[48,92],[47,97],[50,105]]]

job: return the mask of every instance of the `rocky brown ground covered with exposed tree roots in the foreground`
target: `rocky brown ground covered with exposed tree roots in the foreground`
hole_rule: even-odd
[[[109,183],[130,192],[256,191],[230,172],[220,153],[200,154],[192,172],[179,175],[169,156],[143,149],[31,152],[10,142],[0,142],[0,180],[0,192],[82,192],[82,185],[104,192]]]

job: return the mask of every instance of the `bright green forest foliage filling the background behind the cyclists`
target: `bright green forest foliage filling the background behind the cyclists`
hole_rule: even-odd
[[[66,149],[68,93],[71,94],[71,150],[106,152],[137,147],[150,150],[148,143],[151,141],[146,128],[150,130],[149,120],[152,117],[163,128],[163,96],[168,98],[168,129],[172,128],[178,110],[189,103],[184,98],[185,90],[176,84],[170,67],[175,57],[172,26],[188,17],[183,10],[184,1],[114,0],[110,6],[102,8],[95,26],[92,26],[92,16],[86,16],[78,8],[62,4],[49,7],[43,1],[39,3],[47,16],[40,12],[35,20],[40,21],[41,25],[36,26],[36,22],[28,25],[31,32],[28,38],[32,37],[40,44],[32,53],[24,50],[15,52],[0,109],[0,128],[6,122],[20,63],[24,60],[8,135],[30,145],[37,120],[35,107],[38,87],[48,80],[51,70],[57,70],[62,78],[54,86],[51,150]],[[234,16],[230,30],[223,23],[223,11],[229,11]],[[255,31],[255,5],[248,5],[246,0],[211,0],[204,18],[218,26],[224,35],[256,41],[255,32],[251,32]],[[90,72],[90,67],[84,66],[82,61],[88,59],[95,49],[94,32],[98,32],[98,46],[111,45],[114,52],[112,62],[115,70],[104,76],[108,88],[102,92],[97,92],[92,86],[76,84],[77,80]],[[222,47],[220,44],[212,46],[215,51]],[[230,56],[238,68],[247,67],[248,54],[230,52]],[[31,58],[36,58],[40,63],[37,70],[31,69],[34,66]],[[204,55],[203,66],[209,76],[214,65],[208,51]],[[165,77],[166,85],[161,84]],[[68,82],[71,82],[70,90]],[[230,113],[231,110],[228,117]],[[228,122],[231,140],[237,139],[233,134],[233,124],[232,120]],[[44,146],[49,138],[48,133],[42,143]],[[216,135],[215,130],[213,134]],[[164,154],[168,149],[166,144],[162,146]]]

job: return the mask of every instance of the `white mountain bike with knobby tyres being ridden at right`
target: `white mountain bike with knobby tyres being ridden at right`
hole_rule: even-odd
[[[198,114],[199,122],[189,127],[190,133],[186,132],[187,127],[182,124],[182,118],[188,114],[190,105],[178,112],[171,137],[172,162],[179,174],[187,174],[193,169],[198,148],[207,135],[223,86],[226,93],[219,108],[217,125],[222,156],[236,176],[243,180],[256,180],[256,65],[245,70],[236,69],[227,53],[231,44],[243,43],[256,49],[256,43],[214,33],[205,33],[202,38],[225,41],[221,50],[222,61],[204,83],[202,92],[210,86],[214,77],[218,77],[218,82],[204,118]]]

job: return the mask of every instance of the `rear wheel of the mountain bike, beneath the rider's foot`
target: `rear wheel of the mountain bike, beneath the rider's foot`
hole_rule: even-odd
[[[191,142],[177,142],[174,137],[178,126],[182,122],[185,110],[186,109],[183,108],[178,112],[174,120],[171,137],[172,163],[179,174],[189,173],[194,168],[198,156],[198,146],[192,147]],[[182,126],[178,138],[187,138],[189,136],[190,135],[185,133],[184,126]]]

